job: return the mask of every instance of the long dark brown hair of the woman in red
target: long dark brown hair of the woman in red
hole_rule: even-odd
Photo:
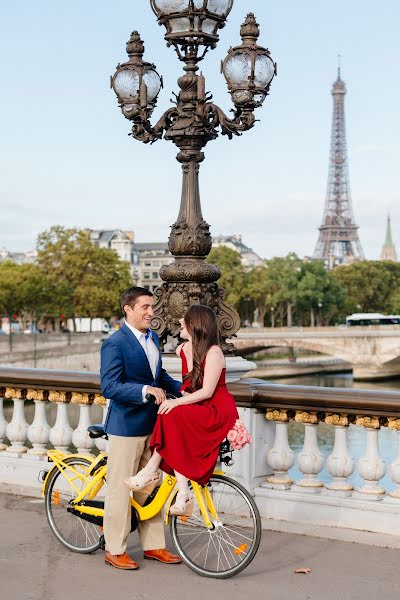
[[[192,336],[193,369],[184,379],[191,379],[192,392],[203,385],[204,359],[211,346],[220,346],[218,321],[208,306],[192,304],[183,317],[188,333]]]

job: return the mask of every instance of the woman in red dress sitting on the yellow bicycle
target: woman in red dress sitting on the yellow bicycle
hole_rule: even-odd
[[[218,459],[219,448],[238,418],[233,396],[226,389],[225,358],[222,353],[215,312],[192,305],[183,319],[178,346],[182,359],[184,396],[165,400],[151,438],[153,455],[147,465],[126,480],[134,490],[149,489],[160,479],[159,467],[175,474],[178,494],[170,512],[189,516],[193,497],[188,479],[205,485]]]

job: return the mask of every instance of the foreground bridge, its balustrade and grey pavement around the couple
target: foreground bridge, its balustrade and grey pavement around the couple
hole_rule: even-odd
[[[271,600],[397,598],[400,455],[393,448],[400,439],[400,394],[260,380],[232,383],[230,390],[254,441],[228,473],[252,491],[264,534],[246,571],[200,582],[185,565],[145,563],[136,534],[128,547],[141,563],[135,573],[106,568],[100,551],[83,556],[60,546],[45,519],[38,476],[48,468],[50,445],[89,456],[105,449],[86,429],[106,410],[99,375],[0,368],[3,596],[81,600],[133,590],[142,600],[205,594],[239,600],[266,590]],[[167,544],[173,547],[170,539]],[[295,574],[299,567],[311,573]]]

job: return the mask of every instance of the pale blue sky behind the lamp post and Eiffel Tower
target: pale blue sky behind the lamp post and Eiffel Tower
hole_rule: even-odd
[[[321,224],[342,56],[350,189],[364,253],[376,259],[388,212],[400,250],[400,2],[235,0],[201,68],[232,107],[220,61],[247,12],[278,63],[260,121],[205,149],[203,216],[213,235],[242,234],[262,257],[312,254]],[[33,249],[53,225],[129,229],[166,241],[181,188],[177,149],[128,137],[110,89],[133,30],[163,75],[154,121],[170,106],[181,64],[149,0],[13,0],[0,5],[0,248]]]

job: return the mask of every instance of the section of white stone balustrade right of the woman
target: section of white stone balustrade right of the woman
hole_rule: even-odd
[[[398,392],[287,386],[259,380],[249,381],[247,391],[244,387],[243,383],[231,386],[239,406],[252,407],[274,429],[264,455],[270,468],[265,479],[260,483],[249,477],[249,472],[247,476],[237,472],[254,490],[263,516],[400,533]],[[297,437],[299,428],[303,429],[301,447],[298,440],[294,443],[291,439],[293,424]],[[332,428],[328,455],[321,451],[321,427],[324,431]],[[382,456],[382,435],[386,445],[390,438],[390,456]],[[363,446],[361,454],[351,443],[355,438]]]

